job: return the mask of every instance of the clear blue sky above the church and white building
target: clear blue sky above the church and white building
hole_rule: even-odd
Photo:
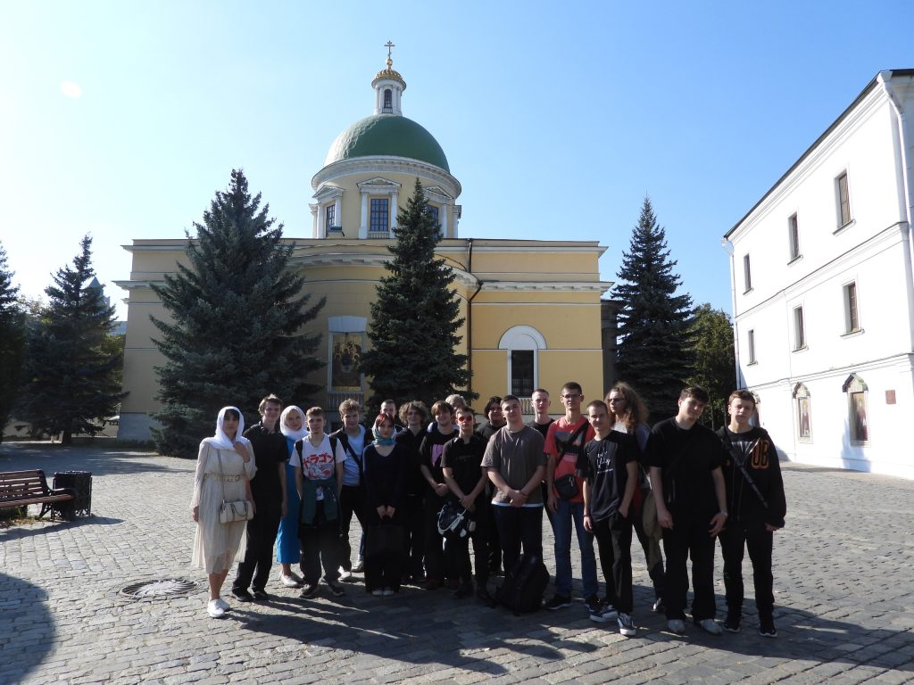
[[[877,71],[914,67],[912,20],[879,0],[2,0],[0,241],[39,296],[90,233],[119,301],[121,246],[183,237],[236,167],[310,236],[311,178],[372,112],[390,39],[461,237],[599,240],[615,280],[650,195],[683,290],[729,311],[720,238]]]

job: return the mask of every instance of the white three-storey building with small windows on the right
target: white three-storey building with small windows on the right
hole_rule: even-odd
[[[914,69],[882,71],[725,236],[739,385],[787,458],[914,478]]]

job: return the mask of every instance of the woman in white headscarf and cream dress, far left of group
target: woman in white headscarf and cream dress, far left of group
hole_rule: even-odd
[[[242,538],[247,522],[219,522],[222,501],[248,500],[253,504],[250,479],[257,467],[250,440],[242,437],[244,416],[237,407],[219,410],[216,435],[200,443],[194,498],[191,507],[197,533],[194,536],[193,564],[206,570],[209,579],[207,613],[213,618],[228,611],[228,603],[219,594],[228,569],[244,558]],[[240,552],[240,553],[239,553]]]

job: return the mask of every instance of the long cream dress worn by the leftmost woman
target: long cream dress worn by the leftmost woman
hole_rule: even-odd
[[[250,451],[250,448],[249,448]],[[219,478],[221,475],[240,476],[237,480]],[[205,569],[207,574],[218,574],[231,568],[235,561],[244,560],[247,522],[219,522],[219,505],[223,499],[236,501],[247,498],[245,481],[254,477],[257,467],[254,456],[245,463],[234,449],[211,447],[206,440],[200,443],[197,454],[197,474],[194,478],[194,497],[191,507],[199,507],[197,533],[194,535],[192,563]]]

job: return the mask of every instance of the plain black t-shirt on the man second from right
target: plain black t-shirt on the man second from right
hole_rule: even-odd
[[[647,463],[662,469],[664,500],[689,511],[717,511],[711,472],[723,458],[724,448],[710,428],[680,428],[675,418],[656,424],[647,443]]]

